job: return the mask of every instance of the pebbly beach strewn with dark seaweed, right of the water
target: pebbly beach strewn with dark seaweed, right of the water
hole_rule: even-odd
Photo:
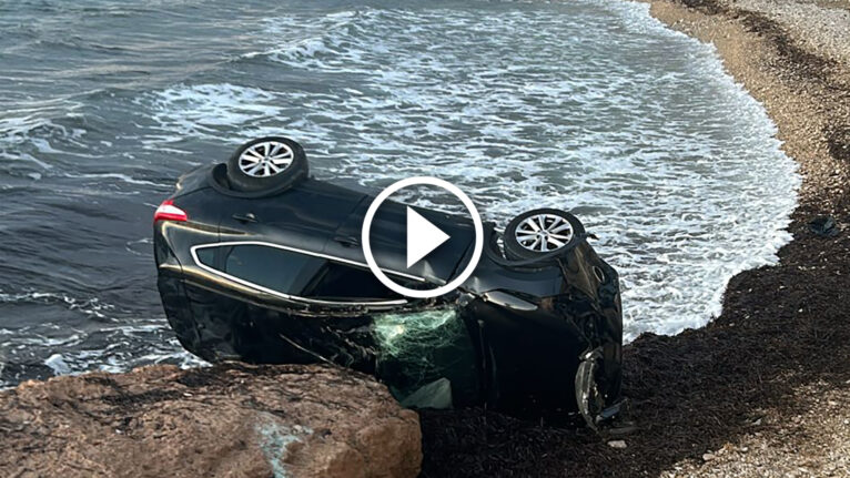
[[[712,42],[777,123],[803,175],[793,241],[733,277],[708,326],[626,347],[637,431],[428,411],[425,477],[850,476],[850,1],[656,0],[651,13]],[[838,235],[810,230],[823,215]]]

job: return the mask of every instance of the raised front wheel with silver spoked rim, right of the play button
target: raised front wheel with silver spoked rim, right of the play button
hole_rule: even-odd
[[[525,212],[505,227],[505,256],[525,261],[547,256],[556,251],[575,247],[585,234],[585,226],[573,214],[555,209]]]

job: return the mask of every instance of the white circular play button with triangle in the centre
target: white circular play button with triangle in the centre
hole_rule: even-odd
[[[381,204],[383,204],[384,201],[386,201],[391,195],[398,192],[399,190],[415,185],[437,186],[452,193],[454,196],[461,200],[464,206],[466,206],[466,210],[469,212],[469,215],[473,218],[473,224],[475,226],[475,245],[473,246],[473,255],[469,260],[469,263],[466,265],[466,268],[464,268],[464,271],[457,277],[449,281],[447,284],[425,291],[405,287],[391,279],[384,273],[384,271],[378,267],[377,262],[375,262],[375,257],[372,254],[372,244],[370,242],[372,222],[374,221],[375,213],[377,212],[378,207],[381,207]],[[406,264],[408,268],[425,258],[428,254],[434,252],[434,250],[439,247],[449,238],[451,236],[437,227],[434,223],[423,217],[422,214],[417,213],[412,207],[407,206]],[[478,260],[482,256],[482,250],[484,248],[484,225],[482,224],[482,217],[478,214],[478,211],[475,209],[475,204],[473,204],[472,200],[469,200],[469,197],[454,184],[431,176],[408,177],[406,180],[398,181],[382,191],[381,194],[375,197],[375,201],[373,201],[368,206],[366,216],[363,218],[361,242],[363,244],[363,255],[366,257],[366,264],[368,264],[368,268],[373,274],[375,274],[375,277],[377,277],[377,279],[381,281],[381,283],[384,284],[387,288],[408,297],[437,297],[457,288],[457,286],[469,278],[473,271],[475,271],[475,267],[478,265]]]

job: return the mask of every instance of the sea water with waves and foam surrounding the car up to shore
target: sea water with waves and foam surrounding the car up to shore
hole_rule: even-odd
[[[574,210],[627,337],[720,311],[771,264],[799,179],[710,47],[647,6],[0,1],[0,385],[196,363],[155,292],[151,215],[245,139],[318,177],[437,175],[504,225]]]

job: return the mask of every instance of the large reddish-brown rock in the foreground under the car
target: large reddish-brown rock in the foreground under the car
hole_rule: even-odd
[[[0,476],[414,477],[418,417],[321,366],[151,366],[0,393]]]

